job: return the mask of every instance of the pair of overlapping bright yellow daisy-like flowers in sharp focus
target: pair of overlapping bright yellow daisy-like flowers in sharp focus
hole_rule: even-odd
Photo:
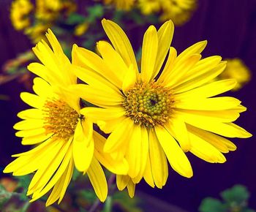
[[[191,152],[211,163],[226,161],[236,150],[225,137],[250,137],[233,121],[246,110],[241,101],[217,96],[236,86],[236,80],[215,80],[225,67],[220,56],[202,58],[206,41],[177,55],[171,47],[174,26],[167,20],[157,30],[149,26],[143,37],[141,65],[124,31],[102,20],[110,42],[99,41],[98,53],[73,45],[72,63],[53,32],[34,53],[42,62],[28,69],[36,77],[34,93],[20,97],[31,109],[18,113],[15,124],[23,145],[37,145],[17,157],[4,173],[34,173],[31,201],[52,189],[47,205],[61,202],[74,168],[87,174],[99,200],[108,195],[102,166],[116,174],[119,190],[130,197],[142,179],[165,186],[168,164],[191,178]],[[78,78],[80,82],[78,83]],[[80,104],[80,99],[95,107]],[[89,104],[88,104],[89,105]],[[102,136],[93,128],[108,137]]]

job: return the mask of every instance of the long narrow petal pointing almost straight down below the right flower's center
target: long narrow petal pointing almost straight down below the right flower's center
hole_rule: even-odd
[[[149,157],[151,162],[151,171],[154,183],[157,188],[162,189],[165,186],[168,177],[168,167],[165,152],[157,140],[156,133],[149,131]]]

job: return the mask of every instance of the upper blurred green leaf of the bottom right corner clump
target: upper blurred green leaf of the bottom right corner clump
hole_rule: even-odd
[[[236,202],[238,205],[241,205],[249,199],[249,192],[245,186],[236,185],[222,192],[221,196],[223,200],[230,204]]]

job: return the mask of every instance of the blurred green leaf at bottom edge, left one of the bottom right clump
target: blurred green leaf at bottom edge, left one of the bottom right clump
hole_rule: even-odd
[[[211,197],[204,199],[199,206],[200,212],[226,212],[226,209],[222,202]]]

